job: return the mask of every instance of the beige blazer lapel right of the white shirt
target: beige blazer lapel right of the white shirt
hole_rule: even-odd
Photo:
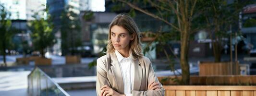
[[[134,89],[133,90],[140,90],[142,81],[142,67],[140,66],[139,59],[134,60]]]

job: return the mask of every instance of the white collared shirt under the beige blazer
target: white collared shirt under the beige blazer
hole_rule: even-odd
[[[121,67],[122,79],[123,79],[123,92],[126,96],[132,96],[133,84],[134,84],[134,61],[131,56],[128,58],[122,57],[122,55],[115,50],[118,63]]]

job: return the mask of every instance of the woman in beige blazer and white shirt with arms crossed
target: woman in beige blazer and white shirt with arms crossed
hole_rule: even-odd
[[[97,60],[98,96],[164,96],[164,89],[142,54],[139,29],[125,14],[109,25],[107,55]]]

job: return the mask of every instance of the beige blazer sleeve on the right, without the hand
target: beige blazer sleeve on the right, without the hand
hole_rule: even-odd
[[[149,59],[147,59],[147,62],[149,63],[149,70],[148,70],[148,83],[149,84],[151,81],[155,81],[155,82],[158,82],[158,78],[154,72],[154,69],[152,67],[152,63]],[[160,84],[160,83],[159,83]],[[136,90],[133,90],[132,91],[132,94],[133,96],[164,96],[164,93],[165,93],[165,90],[162,86],[162,84],[160,84],[161,87],[156,89],[156,90],[146,90],[146,91],[136,91]],[[147,85],[146,85],[146,88],[147,88]]]

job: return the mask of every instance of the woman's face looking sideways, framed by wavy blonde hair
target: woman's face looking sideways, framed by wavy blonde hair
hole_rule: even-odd
[[[134,34],[130,35],[122,26],[114,25],[110,29],[112,45],[116,50],[129,51],[130,41],[134,39]]]

